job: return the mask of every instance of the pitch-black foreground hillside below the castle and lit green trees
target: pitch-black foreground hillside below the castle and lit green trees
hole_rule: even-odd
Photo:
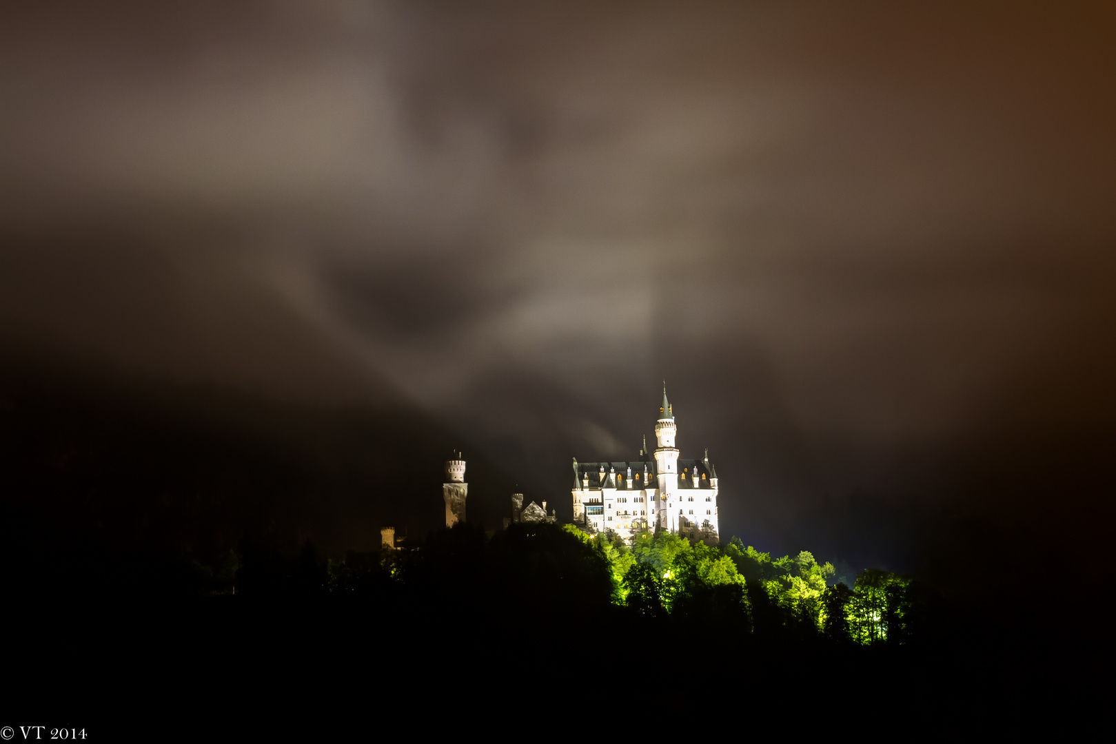
[[[1105,660],[1080,637],[946,608],[925,637],[862,646],[758,624],[752,593],[743,615],[648,613],[613,601],[591,545],[547,526],[443,531],[377,566],[344,591],[306,550],[285,582],[237,595],[27,598],[6,611],[6,707],[100,741],[348,741],[648,719],[670,735],[1068,732],[1088,716],[1074,709],[1104,705]]]

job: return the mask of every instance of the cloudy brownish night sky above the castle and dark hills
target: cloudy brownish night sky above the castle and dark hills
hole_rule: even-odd
[[[514,483],[568,519],[665,379],[724,538],[1097,554],[1114,38],[1101,2],[8,6],[6,365],[411,412],[492,526]],[[300,534],[376,544],[374,486]]]

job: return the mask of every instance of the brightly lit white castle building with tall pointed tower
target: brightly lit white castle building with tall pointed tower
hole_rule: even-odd
[[[655,423],[658,446],[647,451],[644,437],[634,462],[578,463],[574,458],[574,523],[587,532],[610,530],[623,538],[666,530],[715,544],[716,470],[702,460],[680,460],[677,426],[663,386]]]

